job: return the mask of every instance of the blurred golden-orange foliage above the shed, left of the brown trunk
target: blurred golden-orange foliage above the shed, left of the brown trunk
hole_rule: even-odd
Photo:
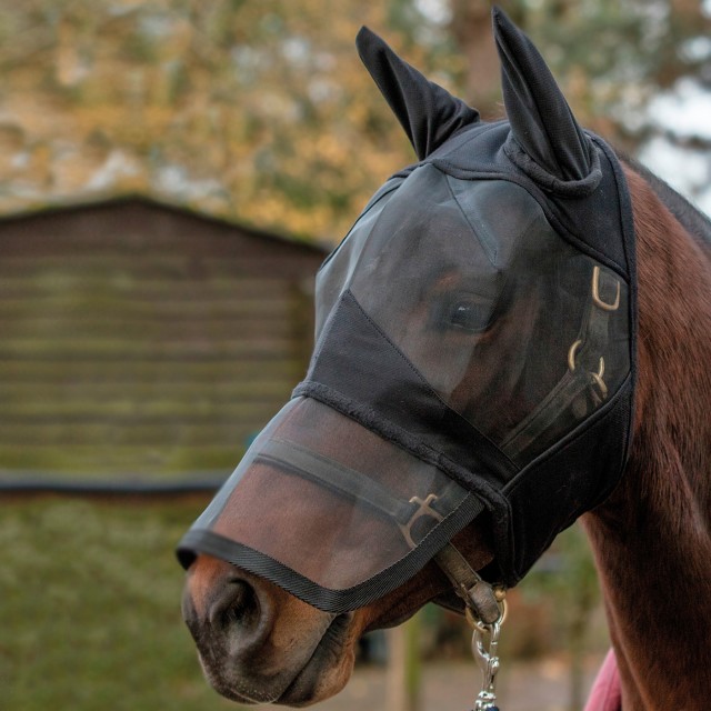
[[[430,67],[442,32],[415,37],[428,26],[415,4],[0,3],[0,109],[22,139],[0,199],[140,190],[262,228],[338,236],[413,159],[354,36],[367,22]]]

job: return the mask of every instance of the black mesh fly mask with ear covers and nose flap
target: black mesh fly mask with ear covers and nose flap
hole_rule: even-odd
[[[509,119],[484,123],[367,29],[419,162],[317,278],[306,380],[180,543],[317,608],[367,604],[485,514],[515,584],[624,467],[634,251],[620,164],[501,12]]]

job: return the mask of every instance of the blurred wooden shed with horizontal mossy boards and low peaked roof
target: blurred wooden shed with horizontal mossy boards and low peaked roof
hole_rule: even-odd
[[[324,249],[144,198],[0,221],[0,471],[234,465],[312,346]]]

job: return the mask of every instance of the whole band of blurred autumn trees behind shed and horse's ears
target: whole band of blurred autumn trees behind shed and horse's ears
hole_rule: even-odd
[[[645,108],[711,82],[701,0],[503,0],[583,123],[634,149]],[[143,191],[337,239],[413,159],[353,49],[383,33],[485,118],[502,114],[489,0],[0,0],[0,210]]]

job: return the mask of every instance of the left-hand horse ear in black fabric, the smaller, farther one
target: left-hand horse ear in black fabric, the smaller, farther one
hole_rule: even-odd
[[[361,28],[356,46],[420,160],[459,129],[479,121],[479,111],[425,79],[368,28]]]

